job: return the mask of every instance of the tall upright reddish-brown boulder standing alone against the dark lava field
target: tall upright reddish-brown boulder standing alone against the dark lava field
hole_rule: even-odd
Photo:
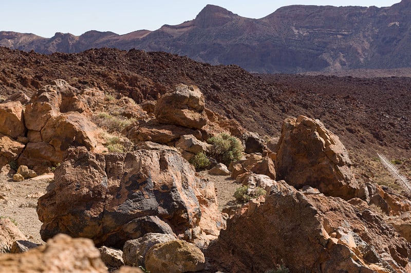
[[[357,196],[360,187],[347,150],[319,120],[305,116],[286,119],[276,152],[277,180],[284,179],[296,188],[310,185],[345,200]]]

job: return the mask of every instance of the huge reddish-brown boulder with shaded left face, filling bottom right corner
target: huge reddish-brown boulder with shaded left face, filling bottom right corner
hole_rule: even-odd
[[[212,269],[265,272],[409,272],[410,245],[382,218],[341,198],[274,182],[264,203],[237,211],[207,256]],[[253,209],[250,213],[250,209]]]

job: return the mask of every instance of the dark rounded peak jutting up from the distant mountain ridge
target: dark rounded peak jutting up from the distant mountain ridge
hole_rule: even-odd
[[[237,16],[225,8],[207,5],[198,13],[195,18],[195,25],[200,28],[219,27],[232,21]]]

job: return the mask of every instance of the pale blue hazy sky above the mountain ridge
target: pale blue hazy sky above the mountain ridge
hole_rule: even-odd
[[[261,18],[289,5],[389,7],[400,0],[0,0],[0,31],[52,37],[55,32],[80,35],[88,30],[125,34],[156,30],[191,20],[207,4],[238,15]]]

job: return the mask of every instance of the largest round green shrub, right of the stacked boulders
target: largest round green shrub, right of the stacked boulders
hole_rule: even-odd
[[[212,144],[210,148],[210,156],[217,162],[230,165],[231,162],[241,159],[244,148],[240,140],[230,136],[227,133],[222,133],[216,137],[211,137],[207,140]]]

